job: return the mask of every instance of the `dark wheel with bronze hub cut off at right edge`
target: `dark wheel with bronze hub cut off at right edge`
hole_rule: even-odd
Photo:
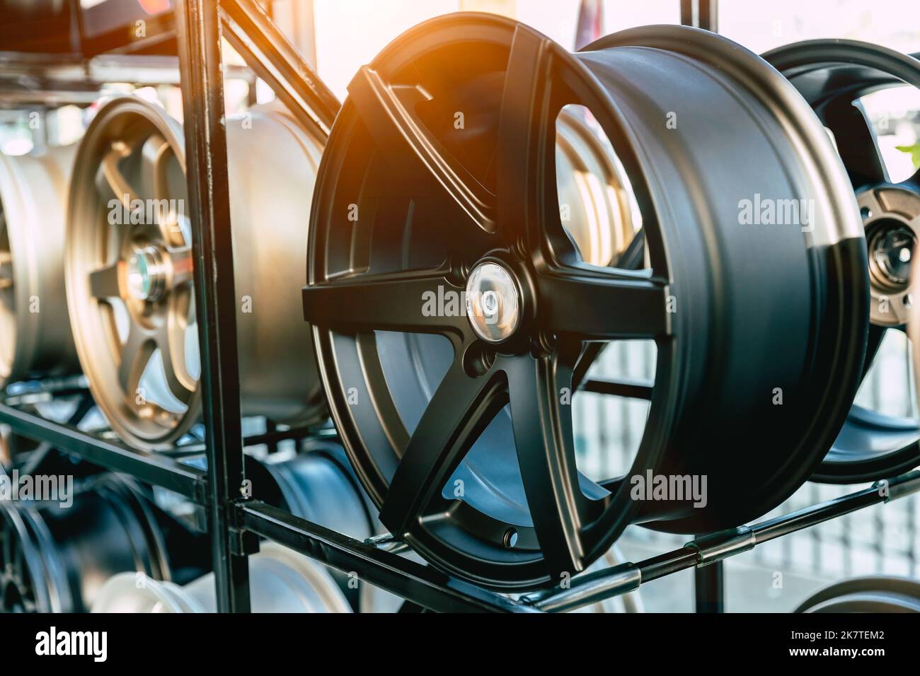
[[[920,61],[855,40],[796,42],[764,58],[799,89],[833,134],[857,194],[872,296],[866,373],[886,332],[905,330],[915,297],[910,260],[920,233],[920,170],[900,183],[891,182],[859,99],[892,86],[920,88]],[[854,405],[813,478],[836,484],[897,475],[920,464],[918,441],[915,419]]]

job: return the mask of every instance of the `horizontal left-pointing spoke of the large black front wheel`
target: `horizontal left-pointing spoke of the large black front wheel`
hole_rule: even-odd
[[[443,270],[358,275],[304,287],[304,318],[319,326],[466,335],[464,289]]]

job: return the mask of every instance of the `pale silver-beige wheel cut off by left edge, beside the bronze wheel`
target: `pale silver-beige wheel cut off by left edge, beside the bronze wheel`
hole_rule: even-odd
[[[75,147],[0,154],[0,386],[76,372],[63,239]]]

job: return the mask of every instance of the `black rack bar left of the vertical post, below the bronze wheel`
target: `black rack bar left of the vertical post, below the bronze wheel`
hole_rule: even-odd
[[[90,432],[6,404],[0,404],[0,422],[9,425],[17,434],[33,441],[44,441],[53,448],[74,453],[113,472],[130,474],[201,505],[207,502],[206,473],[179,464],[166,455],[137,451],[118,441],[101,439]]]

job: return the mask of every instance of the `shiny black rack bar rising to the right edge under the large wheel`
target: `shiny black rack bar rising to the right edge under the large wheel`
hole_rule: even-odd
[[[524,597],[523,602],[544,609],[572,610],[603,601],[636,589],[653,579],[671,575],[686,568],[707,566],[730,556],[741,554],[788,533],[795,533],[823,521],[843,516],[864,507],[903,498],[920,491],[920,470],[907,472],[893,479],[877,481],[872,487],[827,500],[761,521],[751,526],[730,528],[691,540],[683,547],[661,556],[634,564],[627,562],[589,575],[574,578],[568,588],[560,586]],[[639,584],[634,584],[638,578]]]

